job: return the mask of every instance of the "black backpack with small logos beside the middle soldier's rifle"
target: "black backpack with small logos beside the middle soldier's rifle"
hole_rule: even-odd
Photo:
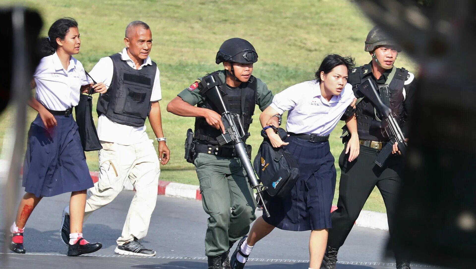
[[[277,128],[277,131],[283,141],[288,137],[283,128]],[[253,162],[255,172],[261,183],[268,187],[266,191],[270,196],[286,197],[299,178],[297,162],[283,147],[274,148],[264,131],[261,136],[264,140]]]

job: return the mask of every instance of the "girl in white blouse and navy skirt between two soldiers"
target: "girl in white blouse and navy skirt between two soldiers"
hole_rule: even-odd
[[[327,55],[316,72],[316,79],[278,93],[259,116],[272,146],[284,146],[296,159],[299,179],[288,197],[271,198],[268,202],[271,216],[259,217],[248,237],[239,241],[230,260],[231,268],[244,268],[256,242],[275,227],[288,231],[310,230],[309,268],[320,268],[327,245],[327,229],[331,228],[330,211],[336,187],[336,168],[328,138],[347,106],[353,106],[356,100],[352,86],[347,84],[348,70],[353,66],[350,57]],[[289,111],[286,129],[290,135],[286,143],[267,127],[273,116],[285,111]],[[349,117],[346,124],[352,134],[347,147],[349,161],[352,161],[359,150],[355,117]]]

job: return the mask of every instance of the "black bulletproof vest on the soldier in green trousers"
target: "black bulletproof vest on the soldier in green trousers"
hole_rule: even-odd
[[[220,72],[221,71],[216,71],[215,73]],[[246,134],[245,137],[243,137],[243,140],[246,141],[246,139],[249,137],[249,125],[253,122],[251,117],[255,113],[258,81],[255,77],[251,76],[248,82],[241,83],[240,86],[235,89],[230,89],[224,81],[221,82],[220,88],[223,92],[225,92],[223,101],[225,101],[228,106],[228,110],[231,113],[241,115],[241,123],[243,124],[243,129],[245,130]],[[220,114],[218,109],[210,104],[206,99],[203,107],[211,109]],[[218,145],[217,137],[221,134],[221,130],[215,129],[214,127],[208,125],[205,118],[197,117],[195,119],[194,138],[198,140],[198,143]]]

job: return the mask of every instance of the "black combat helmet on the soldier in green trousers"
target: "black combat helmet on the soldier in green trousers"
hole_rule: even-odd
[[[255,47],[243,38],[230,38],[221,44],[217,52],[216,63],[235,62],[252,64],[258,61]]]

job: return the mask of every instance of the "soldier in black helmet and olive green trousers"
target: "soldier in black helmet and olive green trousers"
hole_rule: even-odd
[[[216,63],[223,63],[224,67],[214,72],[226,93],[224,101],[231,113],[241,115],[245,132],[252,122],[255,105],[263,111],[273,99],[268,86],[252,76],[253,64],[257,61],[255,48],[242,38],[223,42],[216,58]],[[167,111],[196,118],[195,153],[190,161],[196,166],[203,209],[210,215],[205,235],[208,269],[230,269],[229,249],[248,233],[249,224],[256,219],[256,201],[233,145],[220,146],[217,142],[217,137],[224,132],[221,115],[200,94],[201,80],[203,77],[170,101]],[[274,119],[278,126],[278,118]],[[244,139],[248,137],[249,133]]]

